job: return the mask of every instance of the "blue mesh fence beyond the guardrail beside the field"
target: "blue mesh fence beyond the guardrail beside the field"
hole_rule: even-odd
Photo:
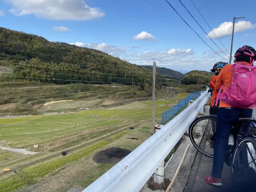
[[[187,96],[185,99],[181,100],[177,105],[172,106],[169,110],[163,112],[162,115],[162,124],[169,120],[172,116],[174,116],[180,109],[185,107],[188,102],[192,99],[196,99],[201,95],[201,91],[191,93],[189,96]]]

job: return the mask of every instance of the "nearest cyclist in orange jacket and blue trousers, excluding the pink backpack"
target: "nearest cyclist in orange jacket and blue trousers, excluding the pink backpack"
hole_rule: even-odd
[[[253,65],[253,62],[256,60],[256,50],[253,47],[245,45],[236,50],[234,57],[236,58],[236,64]],[[221,73],[216,80],[215,89],[221,91],[221,93],[226,92],[226,89],[229,87],[233,80],[234,68],[231,67],[231,65],[226,65],[221,70]],[[250,78],[250,81],[252,81],[252,79],[253,78]],[[220,90],[222,85],[224,85],[224,87],[222,90]],[[241,127],[239,117],[251,117],[252,113],[253,108],[234,108],[228,103],[220,101],[218,116],[216,120],[216,140],[214,145],[212,175],[205,177],[206,183],[215,186],[222,185],[221,172],[224,166],[225,153],[230,132],[233,129],[234,124],[236,124],[236,127],[238,128]],[[247,133],[249,126],[250,122],[247,122],[244,125],[243,136]]]

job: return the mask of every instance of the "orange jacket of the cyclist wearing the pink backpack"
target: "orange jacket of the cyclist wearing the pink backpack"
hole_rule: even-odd
[[[238,61],[238,62],[236,62],[236,64],[250,65],[249,63],[243,62],[243,61]],[[222,68],[221,72],[218,75],[216,83],[215,83],[216,90],[220,89],[223,83],[226,88],[230,85],[230,83],[232,81],[233,71],[234,71],[233,68],[230,69],[230,67],[231,67],[231,65],[225,65]],[[224,86],[222,88],[222,93],[225,92]],[[221,91],[221,90],[219,90],[219,91]],[[220,101],[219,108],[232,108],[232,106]]]

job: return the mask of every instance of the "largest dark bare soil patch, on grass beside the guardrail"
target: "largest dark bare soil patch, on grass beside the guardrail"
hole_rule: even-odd
[[[99,151],[93,157],[96,163],[117,163],[130,154],[131,151],[119,147],[108,148],[103,151]]]

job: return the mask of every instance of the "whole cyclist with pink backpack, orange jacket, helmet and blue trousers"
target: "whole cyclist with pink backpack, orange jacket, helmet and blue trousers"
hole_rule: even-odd
[[[215,83],[215,88],[218,90],[217,101],[220,99],[220,104],[216,122],[212,175],[205,177],[205,181],[216,186],[222,185],[221,172],[233,125],[241,127],[239,117],[251,117],[253,107],[256,106],[256,67],[253,66],[256,50],[245,45],[237,49],[235,58],[236,63],[224,66]],[[249,126],[250,122],[244,127],[244,135]]]

